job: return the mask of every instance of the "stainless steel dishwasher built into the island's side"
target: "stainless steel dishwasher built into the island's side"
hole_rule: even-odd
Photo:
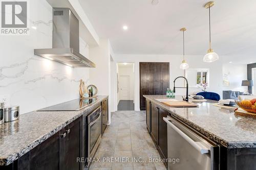
[[[167,123],[168,170],[219,169],[219,146],[216,143],[206,141],[173,117],[163,119]],[[175,162],[170,161],[174,159]]]

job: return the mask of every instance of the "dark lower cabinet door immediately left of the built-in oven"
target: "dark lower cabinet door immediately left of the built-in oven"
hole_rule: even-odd
[[[81,169],[81,118],[76,119],[60,131],[59,139],[59,166],[62,170]]]

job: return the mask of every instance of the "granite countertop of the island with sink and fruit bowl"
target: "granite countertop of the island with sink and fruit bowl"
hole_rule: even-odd
[[[169,111],[169,113],[227,148],[256,148],[256,119],[236,117],[232,110],[213,106],[214,101],[198,103],[194,108],[175,108],[155,99],[165,95],[143,95],[146,99]],[[181,100],[181,96],[177,96]]]

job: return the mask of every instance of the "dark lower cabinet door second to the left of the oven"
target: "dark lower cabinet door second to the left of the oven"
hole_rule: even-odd
[[[30,170],[59,169],[59,133],[54,134],[30,151],[29,165]]]

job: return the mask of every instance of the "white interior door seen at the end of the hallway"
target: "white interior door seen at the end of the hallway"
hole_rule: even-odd
[[[130,100],[130,76],[120,76],[120,100]]]

